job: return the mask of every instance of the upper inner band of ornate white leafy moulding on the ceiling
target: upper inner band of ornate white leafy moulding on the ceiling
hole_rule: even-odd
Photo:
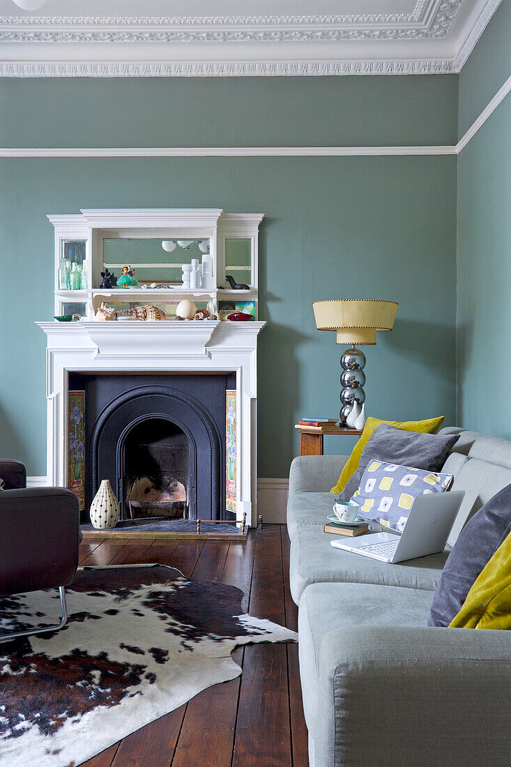
[[[275,42],[443,38],[461,0],[419,0],[411,14],[152,18],[3,16],[0,42]]]

